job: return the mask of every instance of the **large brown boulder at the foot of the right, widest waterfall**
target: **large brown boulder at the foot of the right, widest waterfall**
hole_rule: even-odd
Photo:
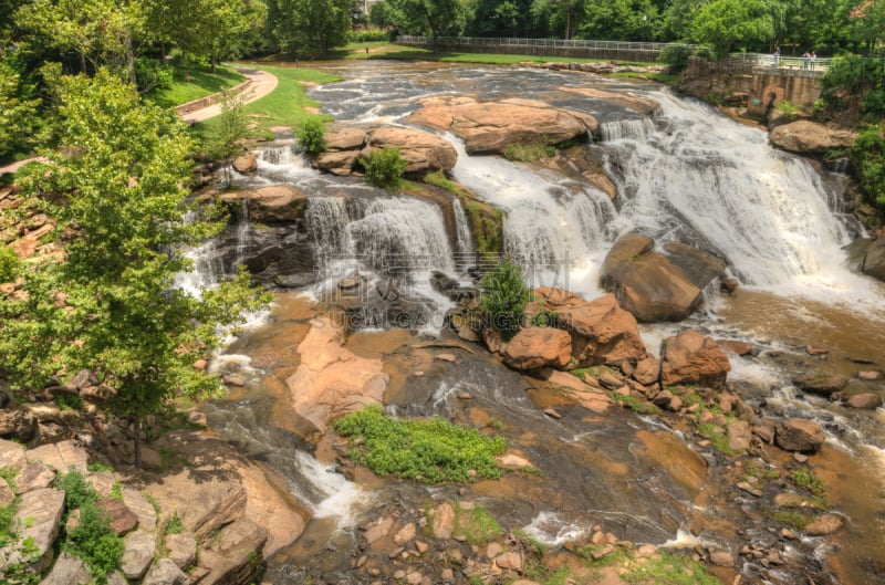
[[[701,290],[653,247],[638,233],[618,238],[603,262],[602,285],[642,322],[681,321],[702,301]]]

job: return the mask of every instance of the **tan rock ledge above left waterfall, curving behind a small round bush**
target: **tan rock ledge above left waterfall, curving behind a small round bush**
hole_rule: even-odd
[[[334,175],[350,175],[360,158],[367,158],[379,148],[397,148],[408,163],[406,173],[451,170],[458,158],[455,147],[436,134],[402,126],[333,125],[325,135],[326,148],[314,165]]]

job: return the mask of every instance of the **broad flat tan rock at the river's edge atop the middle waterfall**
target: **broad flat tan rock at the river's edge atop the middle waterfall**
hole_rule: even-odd
[[[559,144],[584,137],[587,123],[573,112],[543,102],[503,100],[476,102],[431,98],[406,117],[417,124],[451,132],[470,155],[503,154],[517,144]]]

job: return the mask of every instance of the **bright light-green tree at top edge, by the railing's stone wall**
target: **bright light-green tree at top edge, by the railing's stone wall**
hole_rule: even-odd
[[[714,48],[717,59],[725,59],[737,42],[771,41],[774,25],[762,0],[711,0],[691,22],[694,36]]]

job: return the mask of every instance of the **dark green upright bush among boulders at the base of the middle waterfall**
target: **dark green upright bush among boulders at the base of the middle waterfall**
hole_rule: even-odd
[[[525,284],[522,269],[503,260],[492,272],[482,276],[481,285],[479,306],[486,313],[488,325],[501,332],[504,339],[509,339],[522,326],[525,305],[532,299],[532,291]]]

